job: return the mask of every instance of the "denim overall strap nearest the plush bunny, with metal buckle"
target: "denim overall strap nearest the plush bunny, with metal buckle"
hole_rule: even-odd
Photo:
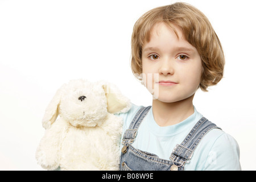
[[[127,129],[125,131],[125,133],[123,134],[122,144],[124,146],[129,146],[129,144],[134,142],[134,139],[136,138],[136,135],[137,135],[139,125],[141,125],[141,122],[143,121],[144,117],[147,115],[150,108],[151,108],[151,106],[142,107],[135,114],[133,120],[130,123],[129,129]]]

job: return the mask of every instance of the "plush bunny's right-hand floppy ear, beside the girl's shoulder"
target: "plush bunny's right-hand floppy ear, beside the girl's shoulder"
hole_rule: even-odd
[[[102,88],[106,95],[109,113],[119,114],[130,110],[130,100],[122,95],[117,86],[105,82],[102,84]]]

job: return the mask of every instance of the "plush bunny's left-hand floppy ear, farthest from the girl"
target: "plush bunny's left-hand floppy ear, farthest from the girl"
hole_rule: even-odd
[[[61,92],[63,91],[66,84],[61,86],[55,96],[52,98],[51,102],[46,108],[46,112],[44,113],[44,117],[42,119],[42,125],[45,129],[49,129],[52,123],[56,121],[57,116],[59,115],[58,106],[60,104]]]

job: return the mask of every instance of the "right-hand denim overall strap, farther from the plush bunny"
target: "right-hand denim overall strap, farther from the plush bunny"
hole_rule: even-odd
[[[212,129],[220,129],[220,127],[208,121],[207,118],[201,118],[183,142],[176,145],[172,151],[170,160],[177,164],[188,163],[201,139]]]

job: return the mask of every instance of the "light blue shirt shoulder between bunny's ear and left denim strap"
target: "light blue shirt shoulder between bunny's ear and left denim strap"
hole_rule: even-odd
[[[115,114],[116,116],[121,117],[123,119],[123,129],[129,128],[131,120],[133,120],[135,114],[138,112],[139,109],[141,109],[141,107],[143,106],[137,106],[132,104],[131,109],[126,113]]]

